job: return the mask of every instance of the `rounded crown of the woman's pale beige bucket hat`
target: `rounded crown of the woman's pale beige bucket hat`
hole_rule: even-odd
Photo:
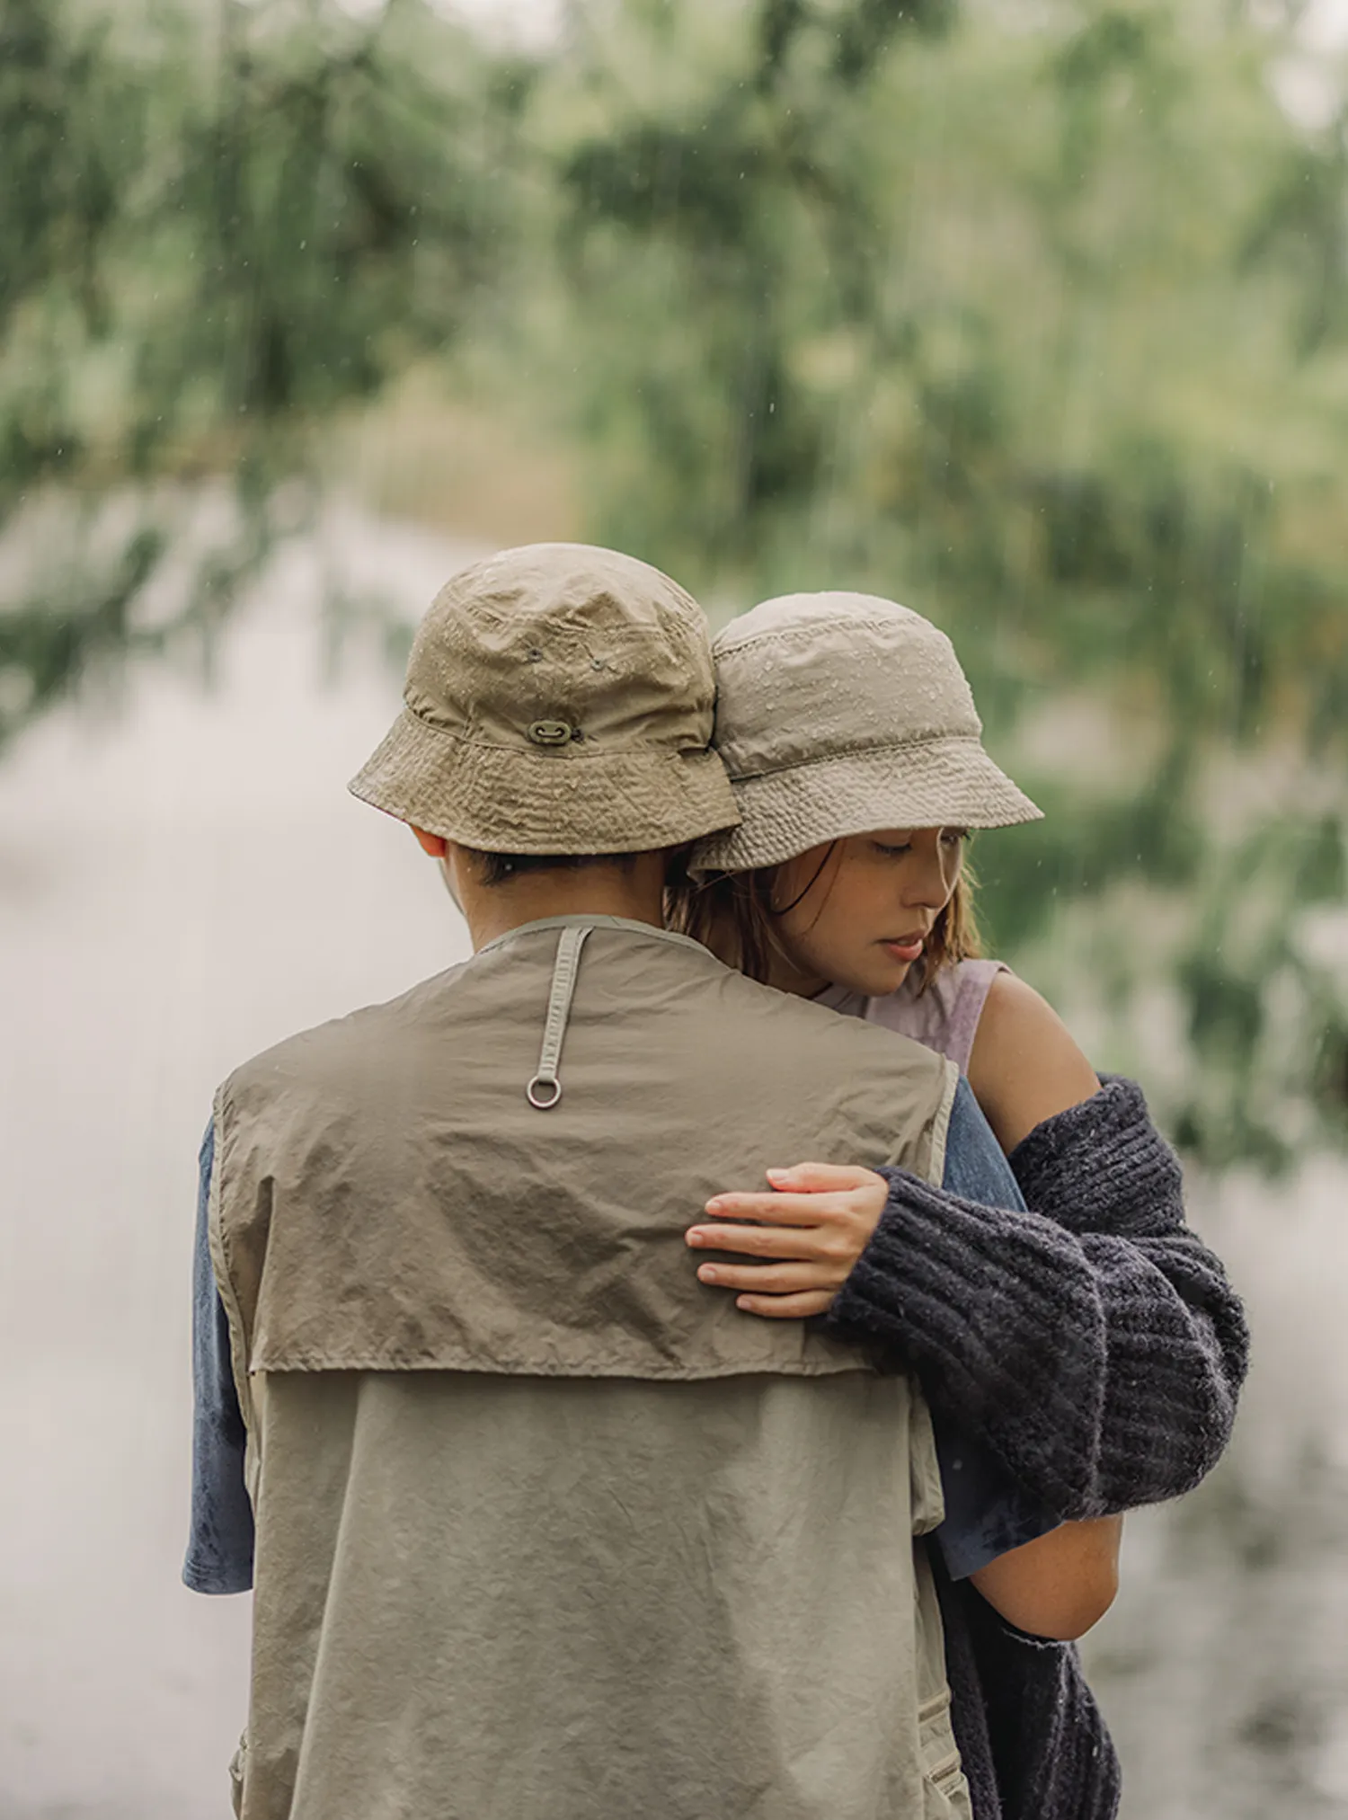
[[[715,743],[731,779],[982,733],[946,633],[879,595],[764,601],[720,633],[713,653]]]

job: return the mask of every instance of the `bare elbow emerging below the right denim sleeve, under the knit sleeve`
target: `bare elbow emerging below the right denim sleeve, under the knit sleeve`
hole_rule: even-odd
[[[1064,1523],[970,1574],[1019,1631],[1073,1643],[1113,1605],[1122,1518]]]

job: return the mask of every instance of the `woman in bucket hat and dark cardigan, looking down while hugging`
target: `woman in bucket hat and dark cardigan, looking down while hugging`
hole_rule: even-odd
[[[1101,1090],[1050,1006],[977,957],[964,832],[1039,810],[984,753],[950,641],[890,601],[793,595],[722,633],[717,666],[742,823],[699,844],[675,923],[955,1059],[1033,1212],[951,1210],[897,1170],[802,1165],[771,1194],[708,1203],[717,1225],[689,1245],[755,1263],[699,1274],[746,1312],[830,1310],[880,1343],[1059,1522],[1186,1491],[1230,1432],[1239,1301],[1184,1227],[1137,1088]],[[973,1578],[991,1605],[995,1567]],[[1075,1651],[1022,1636],[968,1582],[941,1587],[979,1820],[1112,1815],[1117,1773]]]

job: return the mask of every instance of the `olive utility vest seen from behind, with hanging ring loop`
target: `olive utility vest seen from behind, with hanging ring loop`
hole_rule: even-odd
[[[953,1085],[615,917],[226,1081],[244,1820],[966,1820],[926,1405],[684,1243],[768,1167],[939,1179]]]

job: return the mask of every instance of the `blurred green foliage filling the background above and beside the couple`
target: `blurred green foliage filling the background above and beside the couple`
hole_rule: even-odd
[[[999,952],[1206,1159],[1343,1134],[1348,115],[1279,104],[1295,13],[575,0],[526,55],[428,0],[0,0],[0,535],[75,526],[0,741],[218,619],[329,426],[435,373],[713,602],[946,626],[1050,812],[979,846]]]

